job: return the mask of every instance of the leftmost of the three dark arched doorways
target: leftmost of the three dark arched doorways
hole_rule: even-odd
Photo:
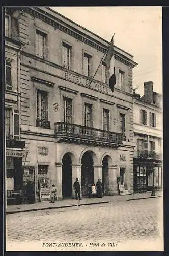
[[[72,160],[69,153],[62,158],[62,197],[72,197]]]

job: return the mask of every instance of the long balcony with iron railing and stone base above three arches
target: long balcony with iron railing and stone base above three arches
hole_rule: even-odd
[[[54,123],[58,142],[118,148],[122,134],[64,122]]]

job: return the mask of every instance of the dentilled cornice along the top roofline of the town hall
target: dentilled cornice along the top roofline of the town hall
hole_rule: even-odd
[[[12,9],[12,8],[11,8]],[[16,10],[16,8],[15,8]],[[36,8],[31,7],[23,7],[22,10],[26,13],[29,13],[33,17],[36,17],[43,22],[51,25],[54,27],[54,29],[59,29],[62,32],[76,38],[78,41],[84,42],[85,44],[95,48],[96,50],[106,53],[107,46],[104,44],[101,44],[101,42],[97,41],[96,39],[90,37],[89,35],[86,35],[85,33],[81,32],[80,30],[73,28],[73,26],[70,26],[69,24],[64,23],[62,20],[59,20],[58,18],[54,17],[53,15],[46,13],[45,11]],[[121,56],[119,56],[121,55]],[[133,60],[130,60],[126,56],[118,53],[115,51],[115,59],[119,60],[120,62],[124,63],[127,66],[130,66],[131,68],[134,68],[137,63]]]

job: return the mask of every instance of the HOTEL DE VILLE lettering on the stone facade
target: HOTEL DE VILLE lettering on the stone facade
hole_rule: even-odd
[[[86,87],[89,87],[89,84],[90,84],[90,80],[87,80],[87,79],[85,79],[83,77],[80,77],[80,76],[73,75],[69,72],[65,72],[64,78],[66,78],[66,79],[68,79],[72,82],[82,84],[83,86],[86,86]],[[99,92],[104,92],[106,94],[109,93],[109,88],[108,87],[105,87],[105,86],[103,86],[103,84],[100,84],[100,83],[97,83],[97,82],[92,82],[90,84],[90,88],[95,89]]]

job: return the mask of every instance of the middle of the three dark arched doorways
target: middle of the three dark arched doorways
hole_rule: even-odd
[[[87,151],[81,158],[81,191],[87,196],[87,186],[94,182],[92,151]]]

